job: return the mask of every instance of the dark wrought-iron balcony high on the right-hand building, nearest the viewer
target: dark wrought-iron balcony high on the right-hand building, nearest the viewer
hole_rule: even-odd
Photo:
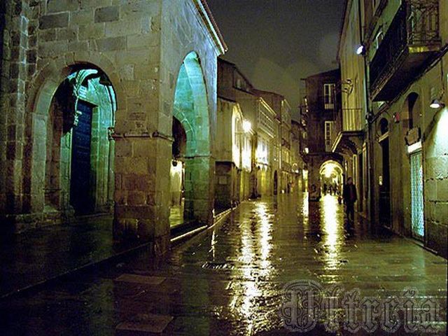
[[[370,62],[372,99],[392,99],[439,48],[439,0],[404,0]]]

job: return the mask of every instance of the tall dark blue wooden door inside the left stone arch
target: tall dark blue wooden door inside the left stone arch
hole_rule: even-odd
[[[90,152],[92,143],[92,106],[78,102],[81,113],[73,127],[71,154],[70,200],[77,213],[92,210],[90,197]]]

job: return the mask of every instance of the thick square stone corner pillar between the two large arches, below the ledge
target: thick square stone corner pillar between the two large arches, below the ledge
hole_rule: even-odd
[[[169,170],[172,141],[148,134],[115,136],[114,238],[169,248]]]

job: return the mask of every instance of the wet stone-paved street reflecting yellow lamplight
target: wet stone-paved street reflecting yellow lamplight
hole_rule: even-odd
[[[163,260],[142,254],[9,297],[0,335],[283,335],[281,290],[305,279],[363,297],[412,286],[440,302],[446,321],[447,260],[357,220],[347,227],[335,196],[309,211],[304,195],[243,202]],[[445,335],[446,323],[436,326]],[[307,335],[326,334],[318,324]]]

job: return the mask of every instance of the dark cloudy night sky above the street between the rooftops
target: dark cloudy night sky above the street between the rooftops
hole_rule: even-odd
[[[335,69],[344,0],[208,0],[223,57],[260,90],[299,103],[300,78]]]

